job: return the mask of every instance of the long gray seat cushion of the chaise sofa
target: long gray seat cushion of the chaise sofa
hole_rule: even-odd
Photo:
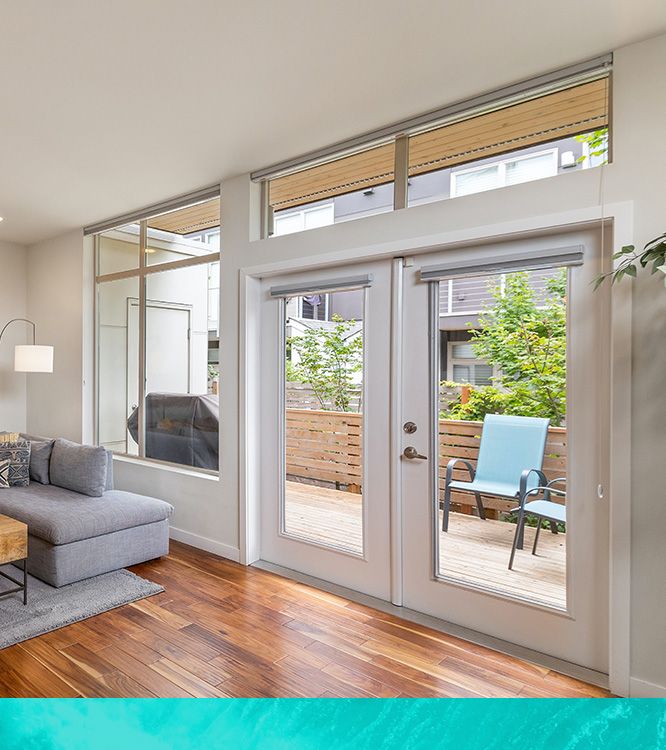
[[[90,498],[53,484],[0,491],[0,513],[28,525],[28,533],[49,544],[69,544],[171,515],[169,503],[133,492],[111,490]]]

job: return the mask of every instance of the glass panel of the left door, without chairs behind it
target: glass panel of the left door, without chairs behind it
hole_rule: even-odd
[[[282,533],[363,554],[363,290],[285,302]],[[307,317],[305,316],[307,313]]]

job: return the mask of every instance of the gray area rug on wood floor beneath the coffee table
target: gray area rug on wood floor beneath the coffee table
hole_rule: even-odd
[[[12,565],[1,570],[22,579],[23,571]],[[0,578],[0,593],[13,587]],[[28,576],[27,606],[23,606],[21,592],[0,599],[0,649],[162,591],[162,586],[129,570],[116,570],[59,589]]]

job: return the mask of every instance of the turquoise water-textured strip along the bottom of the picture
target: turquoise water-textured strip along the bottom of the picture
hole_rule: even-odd
[[[2,750],[649,750],[660,700],[1,700]]]

